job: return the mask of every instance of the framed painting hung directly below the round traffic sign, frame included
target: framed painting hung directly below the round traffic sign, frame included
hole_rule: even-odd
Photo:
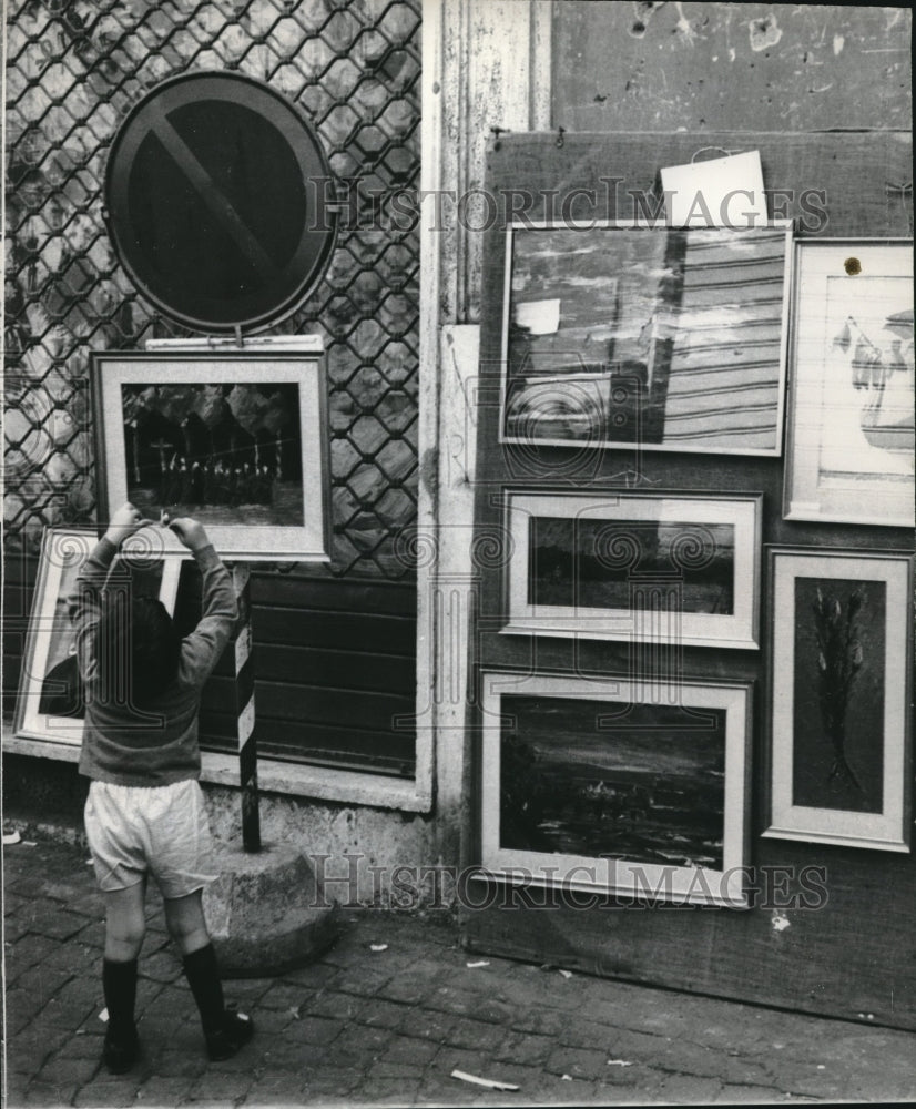
[[[328,560],[319,358],[96,353],[92,387],[100,511],[193,516],[226,558]]]

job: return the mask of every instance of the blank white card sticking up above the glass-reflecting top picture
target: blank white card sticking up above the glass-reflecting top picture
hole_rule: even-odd
[[[766,194],[760,151],[661,171],[672,227],[765,227]]]

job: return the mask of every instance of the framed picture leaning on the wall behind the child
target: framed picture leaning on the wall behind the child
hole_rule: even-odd
[[[16,702],[17,735],[75,745],[82,741],[85,704],[67,602],[96,541],[94,529],[45,529]],[[122,549],[118,563],[119,572],[130,573],[138,596],[157,597],[174,613],[180,558]]]

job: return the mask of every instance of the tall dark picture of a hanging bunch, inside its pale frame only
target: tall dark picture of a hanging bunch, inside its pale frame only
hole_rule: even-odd
[[[795,579],[795,805],[884,811],[886,588]]]

